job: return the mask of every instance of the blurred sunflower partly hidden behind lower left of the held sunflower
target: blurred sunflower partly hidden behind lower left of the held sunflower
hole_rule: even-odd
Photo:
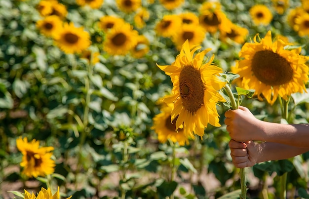
[[[162,104],[163,107],[160,109],[161,113],[154,116],[154,125],[152,126],[152,129],[158,136],[158,141],[165,143],[169,139],[174,143],[178,142],[180,146],[189,144],[189,138],[184,134],[183,126],[176,129],[176,120],[178,117],[171,120],[173,104]]]

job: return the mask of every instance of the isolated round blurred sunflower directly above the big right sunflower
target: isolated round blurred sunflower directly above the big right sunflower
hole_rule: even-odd
[[[272,20],[270,9],[266,5],[257,4],[250,8],[250,16],[255,25],[269,25]]]

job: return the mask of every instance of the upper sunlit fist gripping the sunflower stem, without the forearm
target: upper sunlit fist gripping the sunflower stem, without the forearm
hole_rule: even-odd
[[[239,106],[239,109],[229,110],[225,113],[225,117],[227,131],[233,140],[244,142],[263,138],[263,121],[256,119],[246,107]]]

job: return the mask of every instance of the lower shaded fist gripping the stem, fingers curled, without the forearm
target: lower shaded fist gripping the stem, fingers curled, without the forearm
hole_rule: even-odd
[[[230,140],[232,162],[237,168],[253,166],[257,163],[259,148],[253,141],[236,142]]]

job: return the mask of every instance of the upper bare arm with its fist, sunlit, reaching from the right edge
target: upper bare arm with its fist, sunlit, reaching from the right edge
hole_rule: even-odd
[[[225,123],[233,140],[259,140],[309,148],[309,124],[280,124],[255,118],[246,108],[227,111]]]

